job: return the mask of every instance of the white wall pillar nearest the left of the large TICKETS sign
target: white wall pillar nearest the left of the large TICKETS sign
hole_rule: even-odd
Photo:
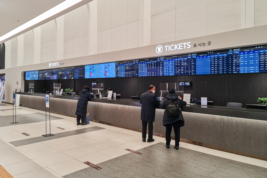
[[[141,45],[150,45],[151,41],[151,0],[141,0]]]

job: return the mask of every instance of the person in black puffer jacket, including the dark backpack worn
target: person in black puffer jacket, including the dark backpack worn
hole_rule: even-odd
[[[175,90],[170,89],[168,95],[163,100],[160,108],[165,109],[163,114],[163,125],[166,127],[166,147],[170,148],[171,130],[174,129],[176,150],[179,149],[180,127],[185,125],[185,120],[179,106],[185,106],[186,102],[182,101],[175,95]]]

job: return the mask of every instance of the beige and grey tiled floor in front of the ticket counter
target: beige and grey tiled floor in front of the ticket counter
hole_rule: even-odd
[[[167,149],[162,137],[142,142],[140,132],[94,122],[76,125],[75,118],[53,113],[51,133],[55,136],[43,137],[45,126],[49,131],[45,112],[17,107],[20,123],[14,125],[9,124],[10,109],[11,105],[0,106],[0,165],[15,178],[267,177],[264,160],[184,142],[175,150],[174,140]],[[102,169],[93,169],[86,161]]]

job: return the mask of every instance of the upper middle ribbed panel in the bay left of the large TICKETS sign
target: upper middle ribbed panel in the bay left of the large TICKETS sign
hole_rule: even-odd
[[[127,0],[112,0],[111,3],[111,28],[127,23]]]

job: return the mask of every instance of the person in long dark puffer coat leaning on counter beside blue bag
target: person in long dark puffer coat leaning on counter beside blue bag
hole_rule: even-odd
[[[82,94],[79,98],[79,101],[77,103],[77,109],[75,112],[75,115],[77,115],[77,125],[80,125],[80,120],[82,120],[82,125],[86,125],[87,123],[84,123],[86,113],[87,113],[87,104],[89,98],[93,98],[94,96],[89,93],[90,88],[88,86],[84,86],[82,90]]]

